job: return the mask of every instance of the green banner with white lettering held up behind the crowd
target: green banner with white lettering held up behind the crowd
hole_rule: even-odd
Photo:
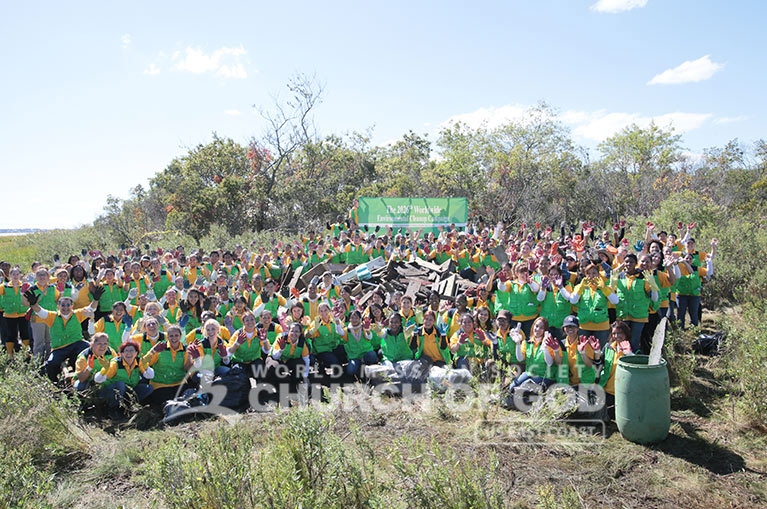
[[[423,228],[455,223],[466,228],[469,206],[466,198],[368,198],[359,199],[357,209],[360,226]]]

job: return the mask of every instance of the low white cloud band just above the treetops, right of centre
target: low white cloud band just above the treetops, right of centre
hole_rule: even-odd
[[[453,115],[439,124],[439,127],[445,128],[459,121],[472,129],[479,127],[493,129],[507,124],[509,121],[524,123],[531,119],[530,112],[530,107],[519,104],[498,108],[479,108],[469,113]],[[681,111],[660,115],[643,115],[641,113],[608,112],[605,110],[568,110],[559,114],[557,119],[572,129],[574,137],[599,142],[631,124],[637,124],[644,128],[649,126],[651,122],[655,122],[655,125],[659,127],[674,127],[677,133],[685,133],[701,127],[712,116],[711,113]]]

